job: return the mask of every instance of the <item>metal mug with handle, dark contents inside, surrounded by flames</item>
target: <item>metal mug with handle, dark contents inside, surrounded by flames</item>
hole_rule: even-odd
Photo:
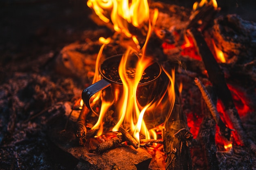
[[[104,90],[107,95],[105,95],[104,99],[107,97],[108,101],[114,100],[117,102],[121,97],[123,92],[123,84],[118,74],[118,67],[121,61],[121,57],[123,54],[114,55],[112,57],[108,57],[100,66],[99,72],[103,79],[92,84],[91,86],[85,88],[82,92],[82,99],[85,105],[92,110],[90,105],[90,98],[97,92]],[[135,68],[136,63],[138,61],[138,56],[132,54],[129,56],[131,58],[127,61],[127,67]],[[111,72],[111,73],[109,73]],[[148,66],[145,69],[144,73],[149,75],[149,78],[140,82],[137,86],[137,101],[141,106],[145,106],[149,102],[157,99],[159,97],[159,90],[157,90],[157,82],[161,75],[162,69],[161,66],[157,62],[153,62],[152,65]],[[112,75],[116,76],[113,77]],[[117,91],[119,92],[118,94]]]

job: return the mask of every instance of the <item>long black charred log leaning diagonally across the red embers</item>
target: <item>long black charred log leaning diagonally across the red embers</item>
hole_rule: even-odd
[[[231,122],[233,123],[241,144],[255,148],[255,144],[250,139],[248,139],[245,133],[242,121],[234,105],[231,92],[227,87],[223,70],[216,62],[213,54],[211,53],[207,43],[204,40],[202,33],[196,29],[191,29],[191,33],[193,35],[194,44],[196,44],[198,47],[198,53],[202,57],[202,61],[204,62],[205,68],[208,72],[209,80],[213,84],[213,87],[216,88],[217,95],[225,106],[225,109],[229,115],[229,118],[231,119]]]

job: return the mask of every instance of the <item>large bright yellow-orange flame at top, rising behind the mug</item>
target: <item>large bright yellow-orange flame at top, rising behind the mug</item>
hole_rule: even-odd
[[[130,3],[129,3],[130,2]],[[132,37],[128,26],[141,26],[149,19],[147,0],[88,0],[88,7],[104,22],[112,22],[115,31]]]

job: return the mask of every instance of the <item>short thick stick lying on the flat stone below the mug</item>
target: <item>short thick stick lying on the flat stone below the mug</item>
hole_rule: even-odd
[[[108,141],[102,142],[97,145],[97,152],[104,152],[106,150],[109,150],[111,148],[114,148],[118,144],[120,144],[123,141],[122,135],[117,135],[117,137],[114,137]]]

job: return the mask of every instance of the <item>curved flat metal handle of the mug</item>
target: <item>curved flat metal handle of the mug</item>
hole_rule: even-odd
[[[82,92],[82,99],[83,99],[83,102],[85,103],[85,105],[87,106],[87,108],[92,110],[92,107],[90,105],[91,97],[95,93],[97,93],[97,92],[99,92],[99,91],[101,91],[101,90],[103,90],[103,89],[105,89],[109,86],[111,86],[111,83],[109,83],[105,79],[101,79],[100,81],[98,81],[98,82],[90,85],[89,87],[85,88]]]

